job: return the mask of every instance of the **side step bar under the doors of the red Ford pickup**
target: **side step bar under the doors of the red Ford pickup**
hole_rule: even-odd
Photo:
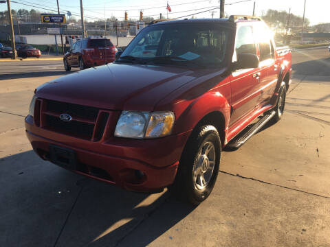
[[[254,124],[254,126],[250,128],[250,130],[245,132],[241,137],[237,139],[234,138],[227,145],[225,145],[225,148],[236,150],[239,147],[241,147],[241,145],[243,145],[246,141],[248,141],[248,139],[250,139],[254,134],[256,134],[256,132],[258,132],[261,128],[263,128],[263,126],[265,126],[265,124],[267,124],[267,122],[270,121],[270,119],[272,119],[272,117],[274,117],[275,114],[276,112],[273,110],[270,114],[265,115],[262,119],[257,121],[256,124]]]

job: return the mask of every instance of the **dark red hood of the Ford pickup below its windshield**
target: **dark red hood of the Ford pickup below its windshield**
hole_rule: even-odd
[[[188,67],[112,63],[47,82],[36,89],[36,96],[109,110],[151,111],[166,95],[206,73]]]

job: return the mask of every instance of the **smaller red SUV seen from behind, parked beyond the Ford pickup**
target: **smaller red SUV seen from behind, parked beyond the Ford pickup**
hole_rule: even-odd
[[[72,67],[80,70],[107,64],[115,60],[117,48],[107,38],[84,38],[78,40],[63,58],[64,69]]]

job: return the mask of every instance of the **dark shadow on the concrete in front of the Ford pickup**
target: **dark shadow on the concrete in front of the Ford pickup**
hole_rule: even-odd
[[[32,151],[0,158],[0,172],[0,246],[146,246],[195,209],[168,192],[85,178]]]

